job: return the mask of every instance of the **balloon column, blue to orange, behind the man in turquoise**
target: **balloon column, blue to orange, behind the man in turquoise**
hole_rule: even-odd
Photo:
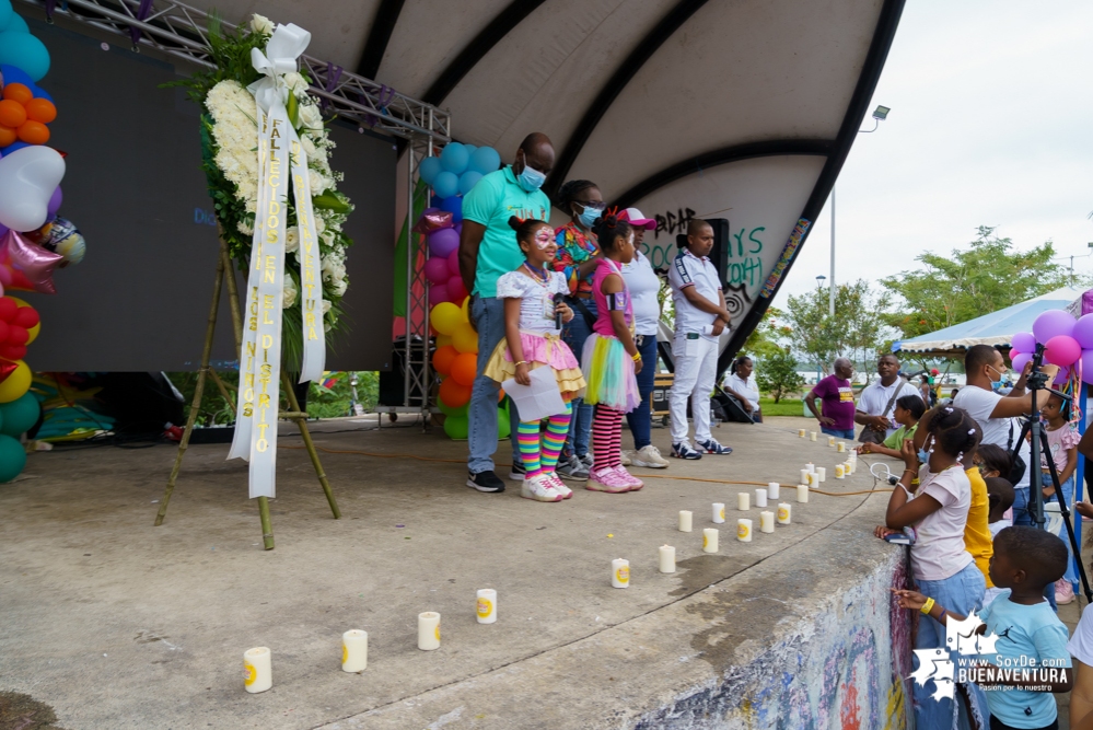
[[[427,234],[429,258],[429,321],[437,333],[433,370],[442,378],[438,406],[444,414],[444,432],[465,439],[469,430],[467,404],[478,370],[478,333],[470,326],[470,299],[460,276],[460,232],[463,229],[463,196],[484,175],[501,166],[501,155],[491,147],[451,142],[440,157],[426,158],[419,173],[433,189],[433,207],[427,208],[416,231]],[[500,437],[509,436],[505,414],[498,418]]]

